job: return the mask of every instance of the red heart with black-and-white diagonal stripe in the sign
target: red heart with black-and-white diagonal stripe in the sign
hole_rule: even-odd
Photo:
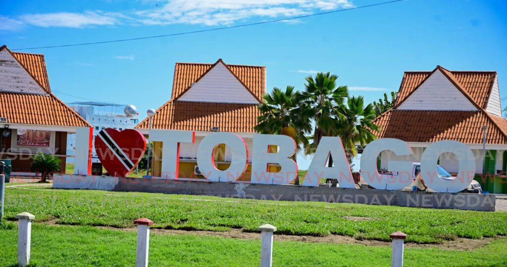
[[[136,130],[107,128],[95,137],[95,151],[111,176],[125,177],[141,161],[146,139]]]

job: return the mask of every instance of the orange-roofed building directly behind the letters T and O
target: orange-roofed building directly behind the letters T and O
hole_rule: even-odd
[[[180,144],[179,177],[202,178],[196,170],[197,146],[211,132],[233,132],[249,148],[260,112],[257,105],[266,93],[266,67],[230,65],[219,59],[214,64],[176,63],[172,94],[156,110],[153,129],[196,132],[194,144]],[[136,129],[148,134],[149,121]],[[161,144],[154,143],[153,175],[160,176]],[[225,146],[215,149],[215,163],[226,169],[231,152]],[[249,177],[248,166],[244,177]]]

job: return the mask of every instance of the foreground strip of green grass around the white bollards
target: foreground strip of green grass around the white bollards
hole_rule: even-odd
[[[11,223],[13,224],[13,223]],[[260,236],[260,235],[259,235]],[[0,231],[0,265],[15,266],[17,229]],[[34,223],[32,266],[133,266],[136,232]],[[406,266],[504,266],[507,238],[473,251],[405,248]],[[150,235],[150,266],[259,266],[260,240]],[[388,266],[389,246],[275,241],[273,266]]]

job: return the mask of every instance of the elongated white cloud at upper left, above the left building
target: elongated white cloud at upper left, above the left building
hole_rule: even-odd
[[[40,27],[69,27],[81,28],[90,25],[114,25],[118,20],[112,15],[100,11],[86,11],[84,13],[45,13],[45,14],[26,14],[20,16],[20,19],[30,25]]]

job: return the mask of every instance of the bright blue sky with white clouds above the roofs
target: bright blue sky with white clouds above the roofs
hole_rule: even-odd
[[[385,1],[385,0],[384,0]],[[364,6],[382,0],[10,1],[0,44],[10,49],[194,31]],[[170,98],[175,62],[267,67],[267,88],[316,71],[339,75],[372,102],[396,91],[405,70],[495,70],[507,85],[507,3],[405,0],[372,8],[190,35],[43,53],[54,91],[130,103],[141,115]],[[66,102],[79,101],[55,92]],[[503,103],[504,105],[505,103]],[[302,168],[308,162],[303,161]]]

